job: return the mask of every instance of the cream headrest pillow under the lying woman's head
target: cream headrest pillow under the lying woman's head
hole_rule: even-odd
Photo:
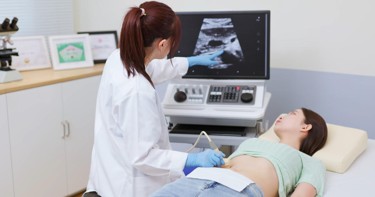
[[[281,114],[280,116],[283,115],[286,114]],[[273,131],[276,120],[266,133],[259,136],[259,139],[271,142],[280,141],[280,138]],[[344,173],[350,164],[366,149],[367,133],[364,130],[335,124],[327,124],[327,129],[328,136],[326,144],[312,157],[323,161],[327,170]]]

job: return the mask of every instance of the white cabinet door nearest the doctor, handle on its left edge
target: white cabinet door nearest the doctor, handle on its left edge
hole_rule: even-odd
[[[100,80],[101,75],[62,83],[64,120],[70,130],[65,138],[68,194],[85,189],[89,180]]]

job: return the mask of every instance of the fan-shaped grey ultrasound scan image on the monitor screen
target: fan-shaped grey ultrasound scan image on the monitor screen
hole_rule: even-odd
[[[232,20],[230,18],[203,19],[193,55],[211,54],[220,50],[224,50],[224,53],[214,58],[219,64],[208,68],[228,68],[245,61]]]

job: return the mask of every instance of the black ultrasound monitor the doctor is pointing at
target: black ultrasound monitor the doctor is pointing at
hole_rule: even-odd
[[[181,40],[175,56],[224,50],[217,65],[194,65],[183,78],[270,79],[270,11],[178,12]]]

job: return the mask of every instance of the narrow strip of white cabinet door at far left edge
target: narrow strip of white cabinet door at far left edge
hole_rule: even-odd
[[[0,95],[0,159],[1,196],[14,196],[5,94]]]

